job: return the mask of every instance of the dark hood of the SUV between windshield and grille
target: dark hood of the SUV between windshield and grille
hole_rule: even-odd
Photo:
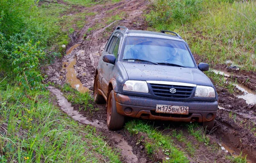
[[[142,63],[122,63],[129,80],[158,80],[212,86],[209,78],[199,69]]]

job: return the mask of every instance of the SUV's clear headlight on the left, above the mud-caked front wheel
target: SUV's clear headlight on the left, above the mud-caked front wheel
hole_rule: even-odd
[[[146,81],[127,80],[124,84],[123,91],[148,93],[148,84]]]

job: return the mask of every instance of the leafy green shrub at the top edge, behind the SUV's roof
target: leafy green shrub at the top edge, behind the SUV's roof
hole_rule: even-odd
[[[151,26],[160,23],[181,24],[180,20],[185,23],[198,18],[201,9],[201,0],[154,0],[146,20]]]

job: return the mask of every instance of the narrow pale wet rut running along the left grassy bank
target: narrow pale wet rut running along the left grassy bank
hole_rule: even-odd
[[[78,111],[74,110],[74,108],[71,106],[71,103],[67,101],[67,99],[63,96],[63,93],[60,90],[56,89],[53,86],[49,86],[48,89],[57,97],[58,105],[61,107],[61,110],[67,113],[74,120],[79,121],[79,123],[90,124],[99,129],[108,130],[108,127],[105,123],[101,123],[99,122],[99,120],[94,120],[93,122],[91,122]],[[124,137],[116,132],[113,132],[111,136],[111,138],[116,141],[116,147],[121,150],[120,153],[122,154],[122,156],[125,157],[127,163],[137,163],[138,158],[132,152],[132,147],[128,144]],[[142,161],[140,162],[143,163]]]

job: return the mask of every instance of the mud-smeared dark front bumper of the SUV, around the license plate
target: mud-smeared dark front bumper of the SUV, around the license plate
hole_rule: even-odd
[[[148,97],[126,96],[114,93],[116,110],[128,117],[149,120],[170,120],[178,122],[207,122],[215,119],[218,109],[217,101],[168,101]],[[156,113],[156,105],[189,106],[189,114]]]

